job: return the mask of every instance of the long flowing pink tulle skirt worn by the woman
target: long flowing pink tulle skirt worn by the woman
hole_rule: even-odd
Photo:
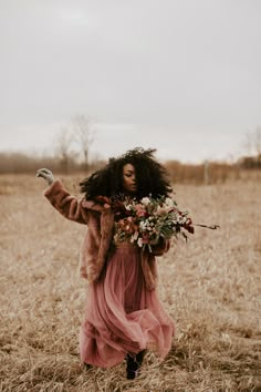
[[[80,332],[81,361],[101,368],[121,363],[126,353],[149,349],[164,358],[171,347],[174,322],[156,290],[147,290],[139,248],[123,244],[97,283],[87,288]]]

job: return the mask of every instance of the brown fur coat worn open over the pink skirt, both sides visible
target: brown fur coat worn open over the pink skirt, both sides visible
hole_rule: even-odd
[[[80,250],[81,276],[90,282],[98,280],[109,251],[112,250],[114,213],[95,202],[77,200],[69,194],[60,179],[56,179],[45,192],[50,200],[65,218],[87,225],[86,236]],[[157,283],[157,266],[155,256],[161,256],[169,249],[169,241],[153,247],[153,252],[142,250],[142,268],[148,290]]]

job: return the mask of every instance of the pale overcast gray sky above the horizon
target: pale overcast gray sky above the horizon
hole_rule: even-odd
[[[52,151],[75,114],[93,154],[199,162],[261,125],[260,0],[0,0],[0,151]]]

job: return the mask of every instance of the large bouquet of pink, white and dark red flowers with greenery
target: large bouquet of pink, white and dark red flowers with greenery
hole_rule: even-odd
[[[170,197],[103,199],[115,213],[115,243],[136,243],[138,247],[148,247],[152,251],[152,245],[157,245],[160,238],[170,239],[181,235],[187,239],[186,233],[194,234],[188,212],[180,212]]]

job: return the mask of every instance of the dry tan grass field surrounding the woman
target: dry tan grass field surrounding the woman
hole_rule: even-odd
[[[81,176],[63,177],[74,194]],[[0,391],[261,391],[261,182],[176,185],[197,228],[158,259],[159,295],[177,334],[163,361],[80,367],[85,281],[77,258],[85,227],[44,199],[43,179],[0,176]]]

